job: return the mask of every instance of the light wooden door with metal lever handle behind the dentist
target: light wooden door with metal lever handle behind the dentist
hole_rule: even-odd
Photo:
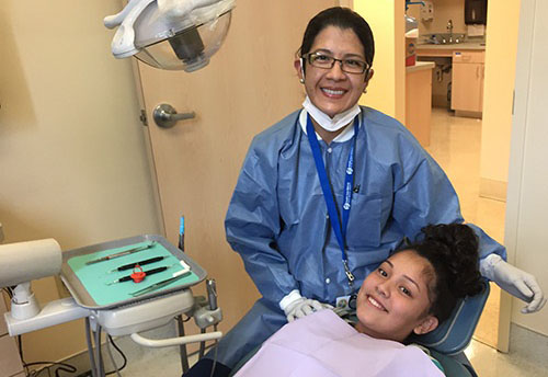
[[[310,18],[336,4],[238,0],[225,44],[206,68],[186,73],[138,65],[165,232],[176,244],[179,218],[185,216],[185,249],[217,279],[224,331],[259,297],[225,239],[241,163],[255,134],[300,106],[295,53]],[[197,117],[159,128],[152,111],[160,103]]]

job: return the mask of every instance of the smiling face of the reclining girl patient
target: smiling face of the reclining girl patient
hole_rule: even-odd
[[[356,330],[398,342],[413,331],[432,331],[437,319],[427,315],[432,273],[426,272],[433,272],[430,262],[411,250],[383,262],[365,278],[357,295]]]

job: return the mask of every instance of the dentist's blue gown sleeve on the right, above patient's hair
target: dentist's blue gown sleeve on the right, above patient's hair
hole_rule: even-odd
[[[393,169],[393,218],[407,237],[414,240],[430,224],[463,222],[460,205],[445,172],[413,139],[399,140],[401,163]],[[481,228],[470,226],[479,238],[480,259],[491,253],[506,259],[506,249]]]

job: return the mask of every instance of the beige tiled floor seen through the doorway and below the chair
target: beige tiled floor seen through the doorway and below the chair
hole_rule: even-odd
[[[479,197],[481,121],[455,117],[446,110],[434,108],[432,144],[427,150],[434,156],[452,180],[459,197],[463,214],[469,222],[482,227],[494,239],[504,237],[504,203]],[[546,365],[532,363],[516,354],[502,354],[493,347],[498,319],[496,287],[492,287],[490,302],[476,333],[466,350],[476,372],[481,377],[547,376]],[[195,357],[192,358],[193,361]],[[142,350],[133,347],[129,364],[123,376],[180,376],[181,363],[176,347]]]

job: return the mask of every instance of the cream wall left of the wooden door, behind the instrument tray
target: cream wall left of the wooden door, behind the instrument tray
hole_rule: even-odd
[[[112,0],[2,1],[4,242],[54,237],[68,250],[159,231],[132,65],[112,57],[113,32],[102,25],[119,9]],[[42,302],[59,297],[53,278],[34,289]],[[82,334],[72,322],[24,335],[26,361],[80,351]]]

